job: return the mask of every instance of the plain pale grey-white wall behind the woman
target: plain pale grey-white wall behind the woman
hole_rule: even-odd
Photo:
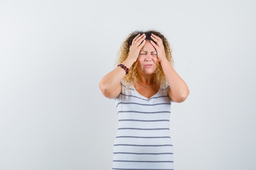
[[[1,0],[0,169],[110,170],[99,81],[132,31],[169,40],[190,95],[172,104],[175,170],[255,170],[256,1]]]

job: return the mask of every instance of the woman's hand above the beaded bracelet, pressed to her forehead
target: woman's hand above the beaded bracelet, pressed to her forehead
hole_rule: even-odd
[[[133,38],[132,45],[130,45],[129,54],[128,54],[127,59],[130,59],[133,62],[137,61],[139,52],[146,42],[145,39],[146,39],[145,34],[142,34],[142,35],[138,34],[135,38]]]

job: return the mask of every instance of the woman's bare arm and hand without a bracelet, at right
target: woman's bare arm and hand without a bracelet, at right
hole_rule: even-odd
[[[151,35],[151,38],[157,43],[155,44],[151,41],[151,44],[157,51],[158,61],[163,68],[164,75],[166,76],[167,82],[170,86],[168,89],[168,95],[173,102],[183,102],[189,95],[189,88],[167,60],[162,39],[153,34]]]

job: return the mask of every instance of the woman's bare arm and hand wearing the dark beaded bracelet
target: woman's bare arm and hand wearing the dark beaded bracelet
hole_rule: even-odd
[[[132,40],[132,45],[130,46],[128,57],[122,64],[130,68],[132,64],[137,61],[139,51],[145,44],[145,38],[145,34],[139,34]],[[110,71],[110,73],[105,75],[99,83],[101,93],[105,97],[108,97],[110,99],[114,99],[115,97],[117,97],[117,95],[119,95],[119,93],[121,92],[122,88],[120,82],[125,75],[126,72],[121,67],[117,67],[114,70]]]

